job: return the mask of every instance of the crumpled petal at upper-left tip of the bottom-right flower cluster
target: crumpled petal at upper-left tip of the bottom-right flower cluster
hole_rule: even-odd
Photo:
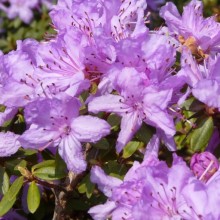
[[[104,171],[98,167],[94,166],[91,169],[91,181],[98,185],[98,188],[107,196],[112,195],[112,189],[119,186],[122,181],[118,178],[107,176]]]

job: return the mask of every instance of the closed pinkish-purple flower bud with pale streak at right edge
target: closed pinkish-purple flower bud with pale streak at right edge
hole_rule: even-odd
[[[207,182],[218,170],[219,162],[210,152],[196,153],[191,158],[190,168],[199,180]]]

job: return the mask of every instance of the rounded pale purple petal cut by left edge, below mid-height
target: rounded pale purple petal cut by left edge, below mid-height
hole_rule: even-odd
[[[0,133],[0,157],[8,157],[18,151],[21,144],[18,141],[19,135],[10,131]]]

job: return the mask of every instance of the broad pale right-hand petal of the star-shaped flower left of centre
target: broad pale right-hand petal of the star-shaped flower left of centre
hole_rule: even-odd
[[[110,125],[97,117],[79,116],[72,121],[74,136],[83,142],[95,142],[110,133]]]

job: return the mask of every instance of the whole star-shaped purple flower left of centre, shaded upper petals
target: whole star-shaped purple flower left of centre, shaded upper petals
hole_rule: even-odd
[[[30,103],[25,118],[30,128],[19,138],[22,147],[43,150],[58,146],[69,170],[80,173],[86,162],[80,142],[96,142],[110,132],[110,126],[92,116],[79,116],[76,98],[42,99]]]

